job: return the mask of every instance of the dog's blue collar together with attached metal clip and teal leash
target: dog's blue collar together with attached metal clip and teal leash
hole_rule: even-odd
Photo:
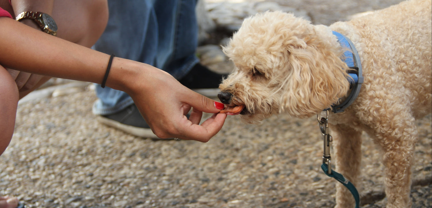
[[[333,35],[336,35],[340,45],[343,48],[347,49],[344,51],[343,55],[344,55],[344,62],[349,67],[349,69],[347,70],[348,75],[351,78],[348,79],[351,88],[351,92],[349,93],[348,97],[341,104],[331,106],[331,110],[334,113],[340,113],[343,112],[349,105],[351,105],[354,102],[354,100],[356,100],[357,96],[359,95],[360,88],[362,86],[364,78],[362,75],[362,64],[360,63],[360,57],[356,50],[356,47],[354,47],[353,42],[351,42],[348,38],[346,38],[345,35],[342,35],[338,32],[333,31]],[[324,173],[327,176],[330,176],[335,180],[339,181],[340,183],[342,183],[343,186],[345,186],[351,192],[354,199],[356,200],[356,208],[359,208],[360,196],[356,187],[353,185],[353,183],[349,182],[349,180],[343,177],[342,174],[334,170],[331,170],[330,142],[333,142],[333,138],[331,137],[328,130],[329,110],[330,108],[324,110],[326,111],[325,117],[320,118],[320,114],[317,115],[317,120],[320,125],[321,133],[323,135],[323,140],[324,140],[323,164],[321,165],[321,169],[324,171]]]

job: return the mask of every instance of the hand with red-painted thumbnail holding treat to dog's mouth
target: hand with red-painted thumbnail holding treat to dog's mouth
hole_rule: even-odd
[[[152,72],[131,80],[133,87],[127,93],[156,136],[208,142],[222,129],[226,119],[226,113],[219,113],[222,103],[186,88],[167,72],[147,67]],[[214,114],[200,125],[203,112]]]

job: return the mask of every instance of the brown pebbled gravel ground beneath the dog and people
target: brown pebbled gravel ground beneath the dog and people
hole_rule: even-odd
[[[315,23],[328,25],[334,16],[350,14],[344,12],[346,5],[357,5],[357,13],[398,1],[325,1],[336,9],[320,8],[324,1],[303,2],[286,3],[308,10]],[[231,116],[205,144],[155,141],[97,123],[91,113],[95,100],[88,89],[19,104],[15,134],[0,157],[0,195],[16,195],[29,208],[335,205],[337,182],[320,169],[322,140],[315,118],[279,116],[251,125]],[[413,207],[431,208],[431,115],[417,124]],[[381,155],[366,135],[362,145],[362,207],[381,208]]]

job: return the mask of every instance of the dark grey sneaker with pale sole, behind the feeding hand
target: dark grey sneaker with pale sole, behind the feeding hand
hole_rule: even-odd
[[[160,139],[152,132],[150,126],[147,125],[146,120],[141,116],[141,113],[135,104],[132,104],[117,113],[98,116],[96,119],[100,123],[120,129],[132,134],[133,136]]]

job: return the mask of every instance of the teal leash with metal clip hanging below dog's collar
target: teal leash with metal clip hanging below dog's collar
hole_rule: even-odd
[[[321,133],[323,134],[324,139],[324,154],[323,154],[323,164],[321,165],[321,169],[327,176],[330,176],[345,186],[353,195],[356,200],[356,208],[360,207],[360,196],[356,187],[353,183],[349,182],[342,174],[331,170],[331,156],[330,156],[330,142],[333,142],[333,138],[330,136],[328,132],[328,110],[326,111],[326,117],[321,117],[319,114],[317,115],[318,123],[320,124]]]

